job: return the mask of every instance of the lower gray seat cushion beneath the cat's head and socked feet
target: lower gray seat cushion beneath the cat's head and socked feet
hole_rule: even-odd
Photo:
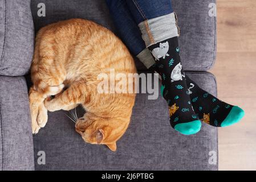
[[[189,74],[202,88],[216,95],[210,73]],[[79,109],[79,115],[84,111]],[[216,170],[209,152],[217,152],[217,129],[203,123],[196,135],[185,136],[170,127],[168,106],[159,96],[148,100],[138,94],[131,125],[117,142],[117,151],[84,143],[63,111],[49,113],[46,127],[34,137],[36,170]],[[38,151],[46,152],[46,165],[38,165]]]

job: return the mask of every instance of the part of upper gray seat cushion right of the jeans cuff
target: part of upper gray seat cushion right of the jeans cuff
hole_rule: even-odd
[[[185,70],[208,71],[216,56],[216,17],[209,16],[216,0],[172,0],[180,27],[181,60]],[[212,7],[212,6],[210,6]]]

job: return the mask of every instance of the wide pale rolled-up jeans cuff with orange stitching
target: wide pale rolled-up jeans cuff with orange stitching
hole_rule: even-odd
[[[139,23],[142,38],[147,47],[162,40],[179,36],[175,13],[159,16]]]

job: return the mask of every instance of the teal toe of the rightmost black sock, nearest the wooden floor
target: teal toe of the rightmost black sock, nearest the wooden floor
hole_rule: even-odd
[[[239,122],[244,115],[245,111],[238,106],[233,106],[226,119],[221,123],[221,127],[234,125],[234,123]]]

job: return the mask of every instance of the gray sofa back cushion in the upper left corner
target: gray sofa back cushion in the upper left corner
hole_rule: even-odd
[[[0,1],[0,75],[29,72],[34,51],[30,0]]]

